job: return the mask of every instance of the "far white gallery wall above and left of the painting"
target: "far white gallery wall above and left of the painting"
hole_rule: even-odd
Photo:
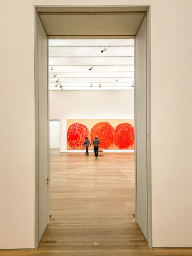
[[[67,152],[67,119],[134,118],[133,90],[50,91],[49,98],[50,119],[60,119],[60,152]]]

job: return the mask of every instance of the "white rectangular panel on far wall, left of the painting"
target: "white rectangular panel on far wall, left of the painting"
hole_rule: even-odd
[[[60,148],[60,120],[49,121],[49,148]]]

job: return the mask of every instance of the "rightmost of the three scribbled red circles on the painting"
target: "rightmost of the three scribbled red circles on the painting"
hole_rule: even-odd
[[[130,123],[120,123],[115,127],[115,144],[120,150],[134,148],[135,129]]]

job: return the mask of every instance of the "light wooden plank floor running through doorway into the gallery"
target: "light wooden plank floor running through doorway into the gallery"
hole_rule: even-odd
[[[36,251],[0,255],[192,255],[189,249],[150,249],[135,213],[134,153],[50,155],[52,218]]]

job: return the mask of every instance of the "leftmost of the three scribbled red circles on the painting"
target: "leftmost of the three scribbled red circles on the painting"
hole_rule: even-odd
[[[89,130],[86,125],[81,123],[72,123],[68,129],[67,142],[75,150],[79,149],[79,147],[84,148],[82,143],[84,142],[84,138],[88,135]]]

